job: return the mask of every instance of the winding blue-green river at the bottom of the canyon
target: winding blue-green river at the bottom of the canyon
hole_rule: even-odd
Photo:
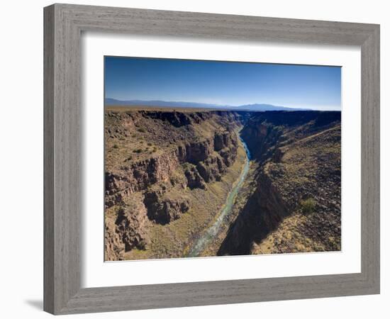
[[[245,178],[247,177],[247,173],[249,172],[249,167],[250,167],[250,152],[247,148],[246,143],[240,137],[240,135],[238,135],[238,138],[240,139],[240,142],[244,147],[245,155],[246,155],[245,165],[240,174],[240,177],[238,177],[237,181],[235,182],[235,185],[233,186],[233,189],[228,194],[225,204],[223,205],[221,213],[216,219],[216,221],[204,232],[203,235],[201,235],[201,237],[199,237],[196,240],[194,245],[192,245],[192,247],[190,248],[186,257],[199,256],[199,254],[210,244],[210,242],[212,242],[216,238],[216,236],[219,233],[219,230],[221,229],[221,226],[223,225],[223,220],[225,219],[226,216],[230,215],[233,208],[233,203],[235,201],[235,197],[237,196],[238,192],[243,186]]]

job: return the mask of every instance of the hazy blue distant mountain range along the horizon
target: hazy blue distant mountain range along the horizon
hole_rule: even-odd
[[[178,101],[142,101],[129,100],[121,101],[117,99],[106,98],[104,100],[106,106],[157,106],[160,108],[214,108],[214,109],[229,109],[234,111],[311,111],[308,108],[287,108],[285,106],[274,106],[272,104],[245,104],[240,106],[230,106],[211,103],[196,103],[196,102],[178,102]]]

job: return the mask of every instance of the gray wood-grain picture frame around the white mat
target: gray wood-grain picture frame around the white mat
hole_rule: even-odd
[[[44,309],[90,313],[379,293],[379,26],[54,4],[44,9]],[[362,54],[362,271],[357,274],[80,286],[80,37],[84,30],[359,45]]]

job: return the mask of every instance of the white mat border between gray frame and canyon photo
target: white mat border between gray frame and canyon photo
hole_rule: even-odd
[[[104,262],[104,55],[342,66],[342,252]],[[360,272],[359,47],[84,33],[82,96],[83,287]]]

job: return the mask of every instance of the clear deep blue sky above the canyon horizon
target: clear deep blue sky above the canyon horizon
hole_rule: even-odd
[[[341,67],[105,57],[105,97],[341,109]]]

